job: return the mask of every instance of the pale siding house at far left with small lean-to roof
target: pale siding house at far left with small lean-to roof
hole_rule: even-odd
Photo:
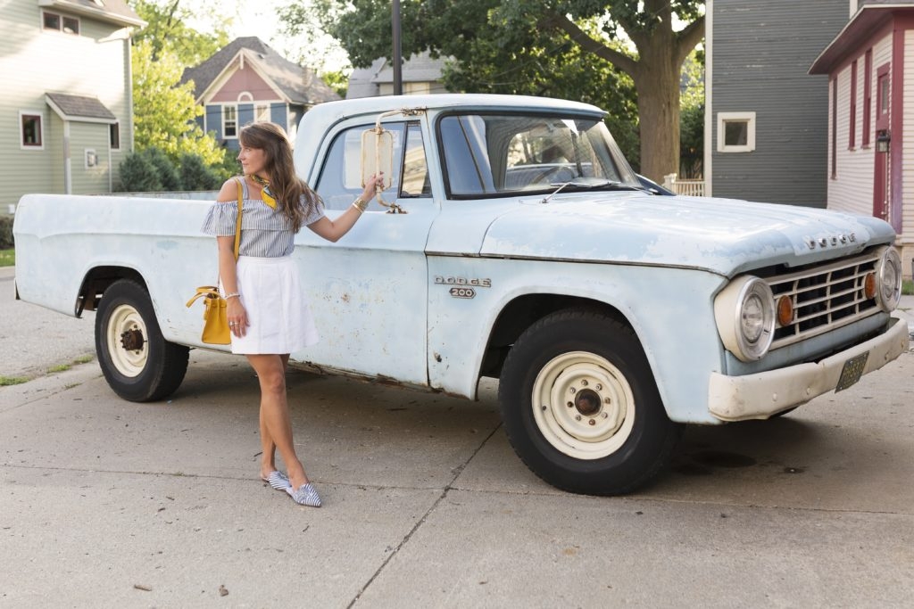
[[[0,19],[0,205],[27,193],[110,193],[133,149],[124,0],[9,0]]]

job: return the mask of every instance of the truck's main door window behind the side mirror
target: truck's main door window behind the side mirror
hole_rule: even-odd
[[[340,131],[330,144],[330,151],[324,157],[324,165],[321,167],[317,186],[314,188],[324,200],[324,206],[327,209],[345,210],[356,200],[356,196],[362,193],[362,131],[372,127],[374,127],[374,123]],[[403,136],[406,125],[402,122],[385,123],[384,128],[393,134],[392,166],[399,168],[403,163]],[[424,154],[422,154],[422,158],[424,160]],[[391,177],[393,182],[390,188],[384,191],[387,195],[385,200],[394,198],[392,193],[399,192],[399,172],[395,171]],[[368,205],[369,211],[383,211],[384,209],[374,200]]]

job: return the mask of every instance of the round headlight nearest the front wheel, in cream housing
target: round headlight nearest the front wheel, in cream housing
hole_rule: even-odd
[[[743,362],[760,360],[768,352],[775,313],[771,288],[757,277],[734,279],[714,300],[717,332],[727,350]]]

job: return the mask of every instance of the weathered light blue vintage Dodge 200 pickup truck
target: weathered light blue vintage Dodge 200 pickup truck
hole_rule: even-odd
[[[901,267],[885,222],[656,196],[603,116],[481,95],[310,110],[295,162],[328,214],[356,198],[366,158],[389,168],[391,206],[373,203],[338,243],[297,236],[323,340],[292,361],[470,399],[497,378],[526,465],[606,495],[662,471],[683,424],[781,415],[908,349],[889,315]],[[29,194],[17,297],[95,310],[114,392],[162,399],[188,349],[214,349],[200,342],[201,309],[185,307],[217,275],[199,232],[207,205]]]

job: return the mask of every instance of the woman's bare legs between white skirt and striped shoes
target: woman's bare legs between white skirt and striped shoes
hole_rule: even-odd
[[[260,443],[263,455],[260,475],[266,476],[275,469],[273,455],[278,448],[289,473],[292,488],[308,483],[304,467],[295,454],[292,442],[292,421],[286,402],[285,367],[289,356],[248,355],[248,361],[260,381]],[[269,468],[269,471],[265,471]]]

